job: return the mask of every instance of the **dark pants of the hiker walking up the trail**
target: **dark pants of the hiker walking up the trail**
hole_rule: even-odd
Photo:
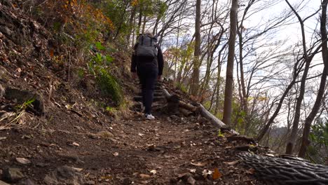
[[[139,81],[142,85],[142,104],[144,113],[151,114],[151,104],[153,104],[153,90],[155,89],[158,69],[152,65],[142,65],[137,67]]]

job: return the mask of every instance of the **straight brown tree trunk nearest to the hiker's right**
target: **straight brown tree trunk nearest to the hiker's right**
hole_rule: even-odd
[[[190,94],[196,96],[198,93],[199,68],[200,68],[200,5],[201,0],[196,1],[196,26],[195,26],[195,51],[193,53],[193,74],[191,76]]]

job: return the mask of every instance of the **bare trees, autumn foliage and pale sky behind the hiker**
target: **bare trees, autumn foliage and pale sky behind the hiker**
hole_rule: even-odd
[[[57,65],[74,65],[81,78],[95,76],[117,107],[125,101],[112,61],[117,53],[130,56],[139,33],[150,31],[163,48],[164,76],[193,100],[222,119],[228,97],[231,128],[274,151],[327,163],[327,1],[28,0],[17,6],[60,42],[48,51]]]

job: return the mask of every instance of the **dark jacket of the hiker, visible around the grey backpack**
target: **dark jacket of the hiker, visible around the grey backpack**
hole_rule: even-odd
[[[137,44],[135,45],[135,48],[137,48]],[[160,47],[158,46],[157,58],[138,57],[133,53],[130,70],[131,72],[137,72],[137,68],[151,67],[155,70],[158,69],[158,75],[162,75],[163,66],[164,66],[163,53]]]

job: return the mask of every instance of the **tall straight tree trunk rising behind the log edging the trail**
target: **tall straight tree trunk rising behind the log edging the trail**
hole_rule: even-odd
[[[228,62],[226,67],[226,89],[224,92],[224,118],[226,125],[231,125],[233,99],[233,61],[235,58],[235,34],[237,32],[238,0],[232,0],[230,11],[230,36],[228,45]]]

